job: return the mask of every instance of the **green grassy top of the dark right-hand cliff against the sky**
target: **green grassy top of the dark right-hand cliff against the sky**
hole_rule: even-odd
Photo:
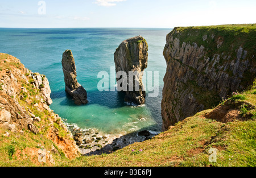
[[[177,32],[175,36],[179,37],[181,44],[193,42],[199,46],[212,47],[214,53],[226,52],[227,49],[238,49],[241,44],[246,51],[255,51],[256,49],[256,24],[175,27],[172,32]],[[198,36],[203,36],[203,38],[199,39]],[[223,44],[217,47],[218,43],[209,43],[211,41],[219,41]],[[209,46],[209,44],[216,46]]]

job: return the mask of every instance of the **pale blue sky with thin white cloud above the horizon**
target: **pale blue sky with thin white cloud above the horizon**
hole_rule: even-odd
[[[255,9],[255,0],[0,0],[0,27],[172,28],[256,23]]]

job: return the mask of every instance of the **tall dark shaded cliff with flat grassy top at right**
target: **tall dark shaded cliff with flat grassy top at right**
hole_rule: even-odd
[[[163,130],[252,84],[255,29],[251,25],[177,27],[167,35]]]

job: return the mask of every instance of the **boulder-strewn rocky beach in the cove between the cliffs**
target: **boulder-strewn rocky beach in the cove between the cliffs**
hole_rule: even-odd
[[[66,123],[65,120],[64,123],[73,134],[82,155],[109,154],[129,144],[143,142],[159,134],[147,130],[135,131],[129,134],[105,134],[96,129],[81,129],[75,124]]]

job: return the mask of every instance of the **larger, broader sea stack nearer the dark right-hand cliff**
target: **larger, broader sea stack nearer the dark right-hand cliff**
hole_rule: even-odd
[[[118,91],[126,93],[125,102],[129,104],[143,105],[145,103],[146,92],[142,77],[144,69],[147,68],[147,51],[146,40],[142,36],[136,36],[123,41],[114,53],[117,81],[124,81],[118,85]],[[123,72],[123,74],[119,75],[118,72]],[[134,75],[130,75],[129,78],[131,72]]]

